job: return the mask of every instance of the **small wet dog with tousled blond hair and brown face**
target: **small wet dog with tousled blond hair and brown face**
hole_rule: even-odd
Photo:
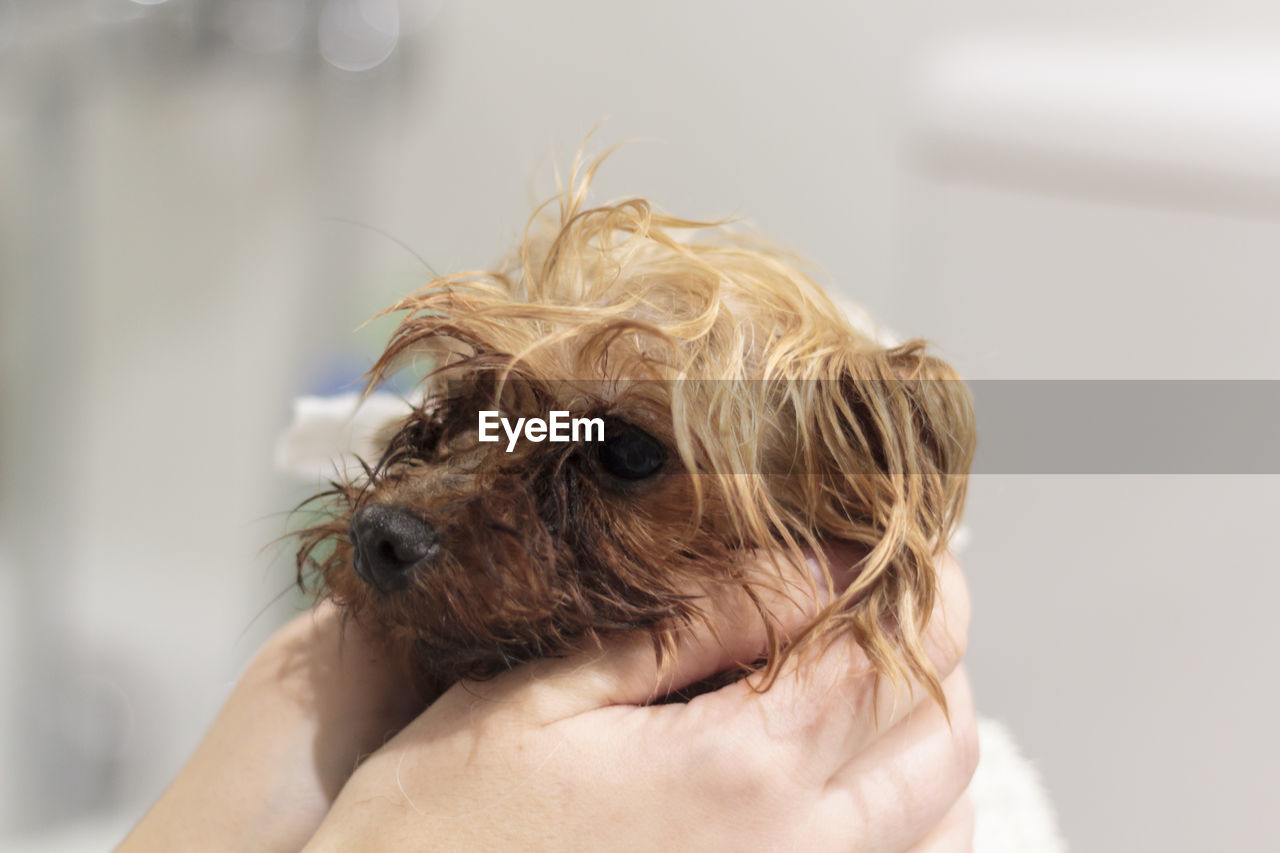
[[[588,207],[599,163],[575,163],[503,268],[388,309],[403,316],[369,388],[426,361],[422,402],[312,498],[300,583],[402,654],[425,703],[614,631],[669,656],[723,587],[772,638],[745,667],[849,631],[942,702],[922,633],[974,452],[964,386],[727,223]],[[828,565],[829,540],[856,565]],[[748,549],[780,571],[819,555],[829,603],[804,631],[777,630]]]

